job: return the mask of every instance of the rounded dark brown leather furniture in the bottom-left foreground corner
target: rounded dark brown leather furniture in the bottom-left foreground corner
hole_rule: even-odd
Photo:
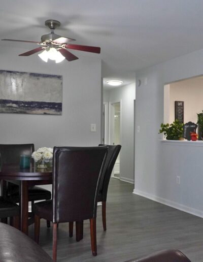
[[[13,226],[0,223],[1,262],[51,262],[51,257],[31,238]]]

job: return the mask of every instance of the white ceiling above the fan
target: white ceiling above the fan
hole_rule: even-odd
[[[104,82],[128,84],[138,69],[203,48],[202,0],[1,0],[0,16],[0,39],[40,41],[45,20],[55,19],[56,34],[100,46],[101,54],[73,53],[101,58]],[[6,45],[36,48],[0,41],[0,54]]]

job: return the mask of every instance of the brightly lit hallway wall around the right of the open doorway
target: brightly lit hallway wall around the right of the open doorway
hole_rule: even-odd
[[[136,94],[135,83],[104,91],[104,102],[121,101],[121,152],[120,152],[120,179],[133,182],[133,134],[134,112],[133,104]],[[109,99],[105,101],[105,99]]]

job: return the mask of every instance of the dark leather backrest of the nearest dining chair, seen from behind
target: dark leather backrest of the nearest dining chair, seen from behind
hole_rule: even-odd
[[[97,196],[108,146],[54,147],[53,222],[96,217]]]

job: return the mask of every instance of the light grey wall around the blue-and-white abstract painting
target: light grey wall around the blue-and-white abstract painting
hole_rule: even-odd
[[[33,48],[29,44],[26,47],[26,50]],[[37,54],[18,56],[26,50],[14,48],[14,45],[8,49],[4,47],[0,69],[62,75],[62,115],[0,114],[0,143],[34,143],[36,149],[41,146],[98,145],[101,60],[78,53],[76,61],[45,63]],[[91,123],[96,124],[95,133],[90,132]]]

